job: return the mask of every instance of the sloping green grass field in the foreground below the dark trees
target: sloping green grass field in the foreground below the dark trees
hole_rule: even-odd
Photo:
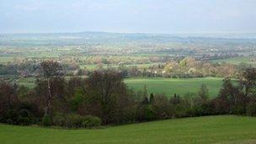
[[[255,143],[256,118],[205,116],[96,130],[0,125],[0,143]]]

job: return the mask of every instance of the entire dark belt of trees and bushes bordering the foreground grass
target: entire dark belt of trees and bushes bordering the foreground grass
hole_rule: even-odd
[[[256,68],[245,69],[235,83],[225,78],[215,99],[209,99],[205,84],[198,93],[175,93],[168,99],[147,93],[146,86],[141,93],[131,91],[122,73],[113,69],[65,78],[60,66],[42,62],[33,89],[0,81],[0,122],[90,128],[200,115],[256,115]]]

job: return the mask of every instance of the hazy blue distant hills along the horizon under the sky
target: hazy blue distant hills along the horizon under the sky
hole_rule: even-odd
[[[253,35],[253,34],[252,34]],[[221,37],[221,35],[219,35]],[[86,45],[124,43],[253,43],[248,36],[222,35],[159,35],[107,32],[50,33],[50,34],[2,34],[0,45]],[[244,38],[243,38],[244,37]],[[256,36],[252,36],[256,38]]]

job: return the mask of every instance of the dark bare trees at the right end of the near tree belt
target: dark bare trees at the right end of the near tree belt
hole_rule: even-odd
[[[221,114],[255,115],[256,114],[256,68],[247,68],[237,85],[230,78],[224,79],[220,90],[217,109]]]

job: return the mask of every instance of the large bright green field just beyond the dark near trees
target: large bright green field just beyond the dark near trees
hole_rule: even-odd
[[[128,78],[125,83],[134,90],[143,90],[147,86],[149,93],[164,93],[168,97],[174,93],[197,93],[200,85],[205,83],[211,97],[216,97],[221,88],[222,78]]]

